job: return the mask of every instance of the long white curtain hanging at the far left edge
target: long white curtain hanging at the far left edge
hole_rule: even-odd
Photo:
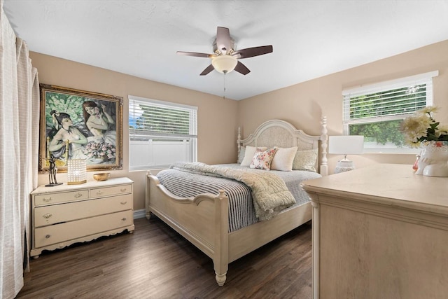
[[[29,269],[29,193],[37,186],[39,88],[27,45],[0,0],[0,298],[14,298]]]

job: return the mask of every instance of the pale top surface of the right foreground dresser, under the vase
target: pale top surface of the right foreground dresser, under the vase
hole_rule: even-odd
[[[416,175],[412,165],[376,164],[304,181],[302,186],[317,195],[448,215],[448,178]]]

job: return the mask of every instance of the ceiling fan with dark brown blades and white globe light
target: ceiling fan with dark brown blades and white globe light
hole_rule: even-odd
[[[225,27],[218,27],[216,31],[214,54],[177,51],[179,55],[207,57],[211,59],[211,64],[202,71],[201,76],[209,74],[214,69],[223,74],[227,74],[234,69],[243,75],[249,74],[251,71],[238,60],[268,53],[272,53],[272,46],[236,50],[235,41],[230,37],[229,29]]]

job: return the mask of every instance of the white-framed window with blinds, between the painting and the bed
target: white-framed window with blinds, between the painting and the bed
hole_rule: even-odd
[[[197,160],[197,107],[129,97],[130,170]]]

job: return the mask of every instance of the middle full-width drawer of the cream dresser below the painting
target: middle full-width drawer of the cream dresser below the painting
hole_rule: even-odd
[[[132,209],[132,194],[36,207],[34,209],[34,226],[38,228],[44,225],[130,209]]]

